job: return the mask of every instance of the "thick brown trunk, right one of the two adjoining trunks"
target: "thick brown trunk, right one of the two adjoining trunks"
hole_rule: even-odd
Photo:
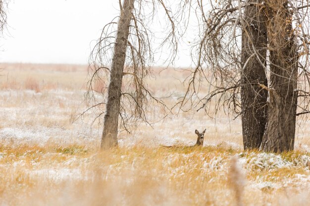
[[[271,74],[268,123],[261,148],[283,152],[294,149],[298,52],[286,0],[270,0],[267,6]]]

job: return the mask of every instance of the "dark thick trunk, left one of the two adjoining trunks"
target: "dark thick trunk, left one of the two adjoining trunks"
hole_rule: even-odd
[[[248,0],[262,2],[263,0]],[[242,33],[242,133],[244,149],[259,148],[267,122],[268,93],[259,84],[267,86],[266,46],[267,31],[264,14],[258,6],[247,6],[244,12],[246,28]],[[255,50],[254,50],[255,48]]]

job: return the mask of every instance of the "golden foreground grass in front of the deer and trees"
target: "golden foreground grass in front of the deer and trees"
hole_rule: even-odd
[[[232,206],[229,162],[240,152],[221,146],[109,151],[81,145],[0,146],[0,200],[11,206]],[[281,177],[268,179],[277,184],[296,174],[309,175],[303,166],[258,171],[260,177]],[[294,182],[255,188],[258,176],[253,171],[244,181],[244,205],[282,206],[283,198],[291,200],[307,188]],[[284,195],[288,192],[290,197]],[[302,196],[298,204],[306,206],[308,201],[309,196]]]

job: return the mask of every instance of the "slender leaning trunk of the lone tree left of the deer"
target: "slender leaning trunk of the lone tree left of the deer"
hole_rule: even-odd
[[[126,58],[131,14],[135,0],[124,0],[117,27],[117,37],[114,47],[108,99],[104,116],[101,148],[108,149],[117,145],[118,116],[121,98],[121,85]]]

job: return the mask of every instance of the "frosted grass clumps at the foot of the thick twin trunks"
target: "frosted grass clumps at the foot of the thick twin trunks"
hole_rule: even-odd
[[[245,171],[248,173],[258,172],[256,178],[249,182],[248,187],[260,190],[280,189],[287,187],[309,188],[310,174],[307,163],[310,161],[308,154],[286,157],[271,153],[241,153],[241,162]],[[276,174],[283,169],[285,172],[277,176],[270,176],[270,172]],[[286,169],[286,170],[285,170]],[[303,174],[294,174],[291,176],[290,170],[303,172]],[[305,173],[305,174],[304,174]],[[264,174],[264,175],[263,175]]]

